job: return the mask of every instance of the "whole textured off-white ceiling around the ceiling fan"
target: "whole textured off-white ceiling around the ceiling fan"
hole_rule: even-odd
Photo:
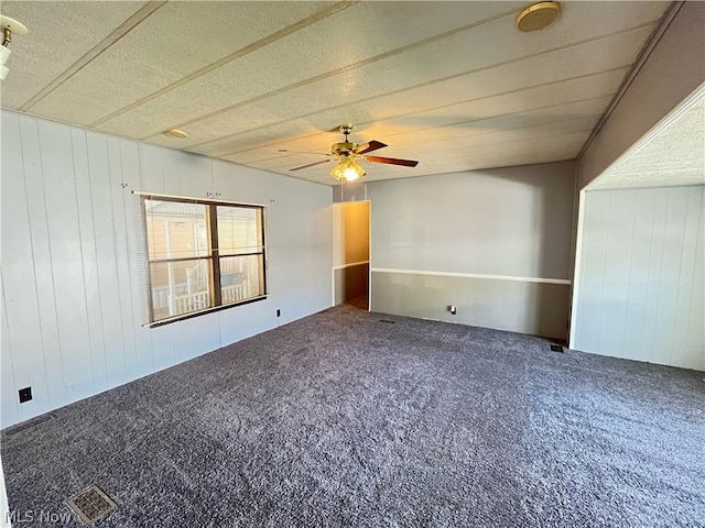
[[[29,33],[2,107],[329,185],[330,163],[289,169],[347,122],[420,161],[368,180],[573,160],[669,2],[564,2],[521,33],[525,6],[4,1]]]

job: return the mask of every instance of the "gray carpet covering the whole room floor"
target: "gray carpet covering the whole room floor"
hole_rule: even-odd
[[[703,377],[344,306],[7,429],[2,461],[11,509],[97,484],[99,527],[705,527]]]

